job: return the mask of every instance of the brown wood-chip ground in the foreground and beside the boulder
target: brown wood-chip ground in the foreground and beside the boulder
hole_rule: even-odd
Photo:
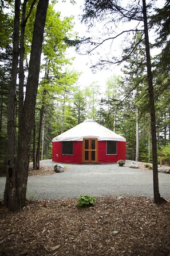
[[[53,173],[52,167],[29,175]],[[0,205],[0,256],[169,256],[170,198],[97,197],[77,208],[77,198],[27,201],[19,213]]]

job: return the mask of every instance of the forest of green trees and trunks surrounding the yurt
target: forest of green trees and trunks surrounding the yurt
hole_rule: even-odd
[[[153,120],[140,3],[133,1],[133,9],[129,3],[126,10],[122,9],[124,12],[119,10],[116,21],[113,17],[118,15],[118,9],[111,5],[115,1],[86,0],[82,22],[87,27],[89,20],[101,22],[105,40],[100,41],[99,37],[80,38],[73,30],[74,17],[61,18],[55,8],[56,1],[49,4],[44,0],[0,2],[1,168],[6,168],[10,159],[11,172],[13,166],[17,166],[17,170],[27,169],[30,161],[34,169],[39,169],[39,160],[52,158],[53,137],[86,118],[126,138],[126,159],[152,163]],[[146,9],[148,32],[154,33],[149,47],[156,146],[158,153],[165,154],[163,164],[170,165],[169,0],[161,7],[151,2]],[[111,49],[111,42],[122,33],[116,35],[110,23],[116,25],[116,22],[123,24],[132,20],[137,25],[124,31],[120,58],[100,58],[93,66],[101,68],[102,72],[105,66],[121,63],[121,75],[113,73],[105,85],[94,81],[82,88],[78,83],[81,74],[72,70],[72,58],[66,58],[67,49],[74,47],[80,54],[97,54],[109,40],[110,46],[106,48]],[[104,29],[105,24],[108,30]],[[152,52],[156,54],[152,56]],[[18,159],[25,159],[22,165]],[[9,179],[10,175],[13,173],[9,174]],[[27,171],[24,175],[26,181]],[[5,198],[8,201],[9,195]],[[22,207],[22,198],[18,204]]]

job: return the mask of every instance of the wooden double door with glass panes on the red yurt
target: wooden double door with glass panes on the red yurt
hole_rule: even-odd
[[[97,138],[85,138],[82,143],[82,162],[98,162],[98,144]]]

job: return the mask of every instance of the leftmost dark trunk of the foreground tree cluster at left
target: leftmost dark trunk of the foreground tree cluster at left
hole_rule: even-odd
[[[19,57],[19,16],[20,0],[15,0],[15,18],[13,32],[13,60],[11,68],[11,82],[9,102],[7,106],[7,174],[3,202],[10,211],[18,208],[17,178],[15,171],[15,92],[17,83],[17,68]]]

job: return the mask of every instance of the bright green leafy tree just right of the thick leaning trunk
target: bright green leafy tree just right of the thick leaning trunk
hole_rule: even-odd
[[[38,128],[38,142],[37,142],[37,153],[36,153],[36,169],[39,169],[39,159],[40,159],[40,148],[41,148],[41,133],[42,128],[45,125],[45,110],[46,104],[48,104],[50,98],[53,94],[57,93],[59,90],[62,91],[62,87],[57,88],[54,83],[54,79],[61,77],[61,68],[64,64],[70,63],[68,59],[65,58],[66,49],[69,47],[65,43],[65,38],[72,36],[70,31],[73,28],[72,24],[73,18],[64,18],[62,21],[60,18],[60,13],[54,11],[54,7],[49,5],[46,26],[45,26],[45,37],[42,52],[44,54],[44,64],[41,66],[41,71],[44,71],[44,81],[41,83],[41,88],[39,90],[41,94],[41,106],[40,106],[40,116],[39,116],[39,128]],[[39,102],[40,104],[40,102]],[[44,143],[42,143],[43,146]],[[34,155],[35,153],[33,153]],[[43,155],[43,153],[42,153]]]

